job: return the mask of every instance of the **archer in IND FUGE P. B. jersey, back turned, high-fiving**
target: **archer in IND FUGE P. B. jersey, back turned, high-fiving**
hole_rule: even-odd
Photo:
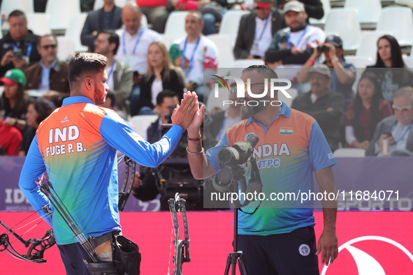
[[[105,102],[109,89],[107,64],[103,55],[87,52],[71,59],[71,96],[38,127],[19,182],[34,209],[42,209],[49,202],[35,181],[47,172],[56,193],[87,237],[121,229],[116,150],[140,165],[156,167],[175,149],[199,110],[196,94],[185,94],[173,112],[173,127],[159,142],[149,144],[116,112],[96,106]],[[66,273],[89,274],[83,262],[88,258],[85,250],[57,211],[47,221],[55,232]]]

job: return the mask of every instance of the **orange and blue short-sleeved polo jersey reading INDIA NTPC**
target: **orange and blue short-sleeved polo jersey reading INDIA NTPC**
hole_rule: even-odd
[[[208,150],[208,163],[215,171],[220,169],[219,150],[224,145],[232,147],[234,143],[244,141],[250,133],[259,137],[253,157],[259,168],[265,200],[254,214],[239,211],[238,234],[274,235],[314,226],[312,201],[301,203],[290,199],[294,197],[288,198],[287,193],[313,191],[312,172],[335,165],[317,121],[285,104],[268,126],[254,118],[240,121],[226,131],[216,147]],[[242,166],[248,182],[252,165]],[[276,197],[271,197],[271,194],[278,193],[285,195],[284,200],[273,200]],[[244,210],[252,212],[258,205],[258,201],[251,202]]]

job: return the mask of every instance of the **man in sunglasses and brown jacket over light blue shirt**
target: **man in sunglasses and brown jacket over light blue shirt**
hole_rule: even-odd
[[[63,99],[70,94],[68,63],[57,59],[57,39],[54,35],[42,36],[36,47],[41,60],[24,70],[27,79],[25,89],[41,90],[43,98],[60,107]]]

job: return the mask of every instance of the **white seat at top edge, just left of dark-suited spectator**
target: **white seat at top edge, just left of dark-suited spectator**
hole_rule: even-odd
[[[66,31],[68,27],[72,27],[69,24],[73,15],[80,14],[80,0],[48,0],[45,13],[50,15],[50,29],[54,32],[62,33]],[[84,23],[85,21],[83,21],[83,24]],[[82,31],[82,27],[80,31]]]

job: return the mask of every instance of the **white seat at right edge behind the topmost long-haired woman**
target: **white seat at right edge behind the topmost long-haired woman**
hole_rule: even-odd
[[[376,31],[394,36],[401,47],[413,45],[413,14],[410,8],[388,7],[382,10]]]

